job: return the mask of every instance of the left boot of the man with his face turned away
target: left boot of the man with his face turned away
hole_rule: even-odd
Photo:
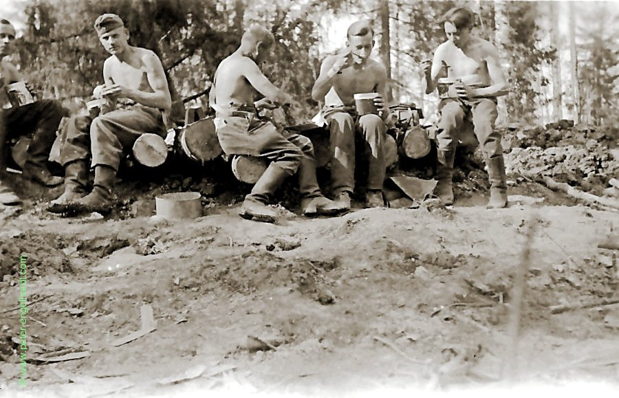
[[[254,184],[252,192],[245,197],[239,216],[243,219],[274,223],[277,221],[277,212],[268,206],[275,190],[290,176],[276,163],[269,164],[261,177]]]

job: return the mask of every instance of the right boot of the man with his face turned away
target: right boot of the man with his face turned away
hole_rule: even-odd
[[[305,216],[334,215],[349,210],[345,203],[327,199],[316,179],[316,161],[303,155],[298,166],[298,190],[301,194],[301,210]]]

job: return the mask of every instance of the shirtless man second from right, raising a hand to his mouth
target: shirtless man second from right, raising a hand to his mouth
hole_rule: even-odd
[[[321,74],[312,89],[312,98],[325,101],[323,117],[331,134],[331,185],[339,203],[350,207],[355,188],[355,134],[361,133],[369,155],[367,207],[384,206],[382,184],[387,167],[382,146],[389,118],[384,103],[387,69],[369,58],[374,46],[374,32],[369,21],[358,21],[348,28],[347,47],[327,56]],[[374,100],[380,115],[358,116],[354,107],[357,93],[378,93]],[[382,115],[382,116],[381,116]]]

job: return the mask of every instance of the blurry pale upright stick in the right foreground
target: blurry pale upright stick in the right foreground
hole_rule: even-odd
[[[512,302],[510,311],[510,321],[508,323],[508,336],[510,342],[506,348],[505,357],[503,357],[503,363],[501,364],[501,379],[504,379],[507,375],[513,378],[516,373],[518,352],[518,339],[520,334],[520,317],[522,311],[522,303],[525,294],[526,276],[529,269],[529,263],[531,261],[531,246],[537,229],[538,217],[534,213],[529,221],[529,230],[527,234],[527,241],[525,243],[524,250],[522,252],[522,260],[519,267],[516,269],[516,275],[514,277],[514,287],[512,288]]]

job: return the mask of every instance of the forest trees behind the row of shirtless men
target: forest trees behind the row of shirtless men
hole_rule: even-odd
[[[99,14],[121,16],[130,43],[162,59],[177,100],[206,96],[219,62],[252,23],[276,37],[272,81],[305,105],[321,60],[345,45],[357,19],[376,30],[373,56],[388,65],[394,102],[414,102],[426,123],[436,118],[436,94],[425,96],[420,63],[445,41],[441,16],[454,6],[477,14],[475,32],[494,43],[511,91],[501,98],[499,125],[543,126],[561,119],[616,126],[619,12],[605,1],[404,0],[1,0],[3,18],[18,27],[12,57],[45,98],[83,107],[102,82],[107,54],[92,26]]]

